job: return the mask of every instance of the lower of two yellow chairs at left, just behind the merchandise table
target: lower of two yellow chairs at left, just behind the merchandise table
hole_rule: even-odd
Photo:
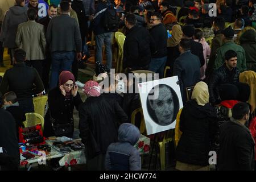
[[[24,121],[24,127],[31,127],[35,125],[42,125],[42,131],[44,130],[44,118],[38,113],[26,113],[26,121]]]

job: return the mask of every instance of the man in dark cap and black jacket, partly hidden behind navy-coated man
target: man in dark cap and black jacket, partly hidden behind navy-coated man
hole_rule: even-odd
[[[191,53],[196,55],[200,59],[201,67],[203,67],[205,60],[204,60],[204,53],[203,53],[203,46],[199,42],[193,41],[192,37],[195,34],[195,27],[191,25],[184,26],[182,28],[183,31],[183,38],[184,39],[191,39]]]

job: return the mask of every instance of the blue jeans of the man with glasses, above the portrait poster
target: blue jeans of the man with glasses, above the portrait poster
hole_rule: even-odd
[[[159,73],[159,78],[163,78],[166,61],[167,61],[167,56],[159,57],[159,58],[151,58],[148,70],[155,73]]]

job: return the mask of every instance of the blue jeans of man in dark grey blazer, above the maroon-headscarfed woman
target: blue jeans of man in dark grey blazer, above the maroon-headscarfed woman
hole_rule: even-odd
[[[72,63],[75,59],[73,51],[56,51],[52,52],[52,72],[49,89],[55,88],[59,80],[61,71],[71,71]]]

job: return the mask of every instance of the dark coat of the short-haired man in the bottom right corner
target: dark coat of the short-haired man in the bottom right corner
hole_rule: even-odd
[[[255,142],[250,130],[235,119],[220,127],[220,150],[218,169],[220,171],[253,171]]]

